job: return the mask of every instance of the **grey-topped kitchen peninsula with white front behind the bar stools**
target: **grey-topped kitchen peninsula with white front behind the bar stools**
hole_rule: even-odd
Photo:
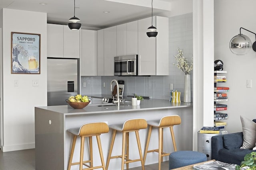
[[[104,105],[99,107],[98,105]],[[106,105],[106,106],[105,106]],[[179,150],[192,150],[192,103],[170,103],[169,100],[150,99],[142,100],[140,105],[132,106],[131,102],[125,102],[120,107],[111,106],[109,104],[90,104],[84,109],[73,109],[70,106],[42,106],[35,107],[35,141],[36,141],[36,170],[66,170],[68,166],[68,158],[70,154],[70,146],[72,143],[72,135],[67,129],[80,127],[84,123],[105,121],[106,123],[115,124],[123,123],[127,119],[144,118],[147,121],[160,119],[165,115],[180,115],[182,123],[174,127],[177,148]],[[167,128],[166,128],[167,129]],[[184,133],[186,135],[178,135]],[[147,129],[139,131],[142,152],[144,152]],[[102,141],[102,150],[104,161],[108,154],[112,131],[100,136]],[[158,131],[152,131],[150,147],[156,149],[158,145]],[[130,134],[132,141],[136,141],[135,135]],[[122,135],[117,134],[114,144],[113,154],[121,152]],[[94,141],[95,140],[95,141]],[[77,144],[80,140],[77,141]],[[130,158],[138,158],[138,148],[130,142]],[[96,144],[96,139],[93,139]],[[87,146],[87,144],[86,144]],[[79,160],[80,145],[76,145],[74,152],[74,160]],[[97,145],[93,146],[94,165],[100,165]],[[172,139],[170,130],[164,131],[164,150],[173,152]],[[85,155],[87,154],[85,151]],[[168,160],[164,158],[164,160]],[[87,156],[85,156],[87,158]],[[156,154],[148,154],[145,164],[153,164],[158,162]],[[141,166],[140,162],[133,162],[129,167]],[[121,167],[121,159],[112,159],[109,169],[119,170]],[[71,167],[71,170],[77,169],[78,166]]]

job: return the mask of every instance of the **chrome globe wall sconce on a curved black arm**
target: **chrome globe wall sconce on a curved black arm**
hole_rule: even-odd
[[[253,51],[256,51],[256,41],[252,44],[252,41],[248,36],[241,34],[241,29],[249,31],[248,29],[240,27],[240,34],[234,36],[230,40],[229,48],[231,52],[236,55],[245,55],[246,53],[248,53],[248,51],[250,51],[251,48],[253,49]],[[256,39],[256,33],[252,31],[249,32],[253,33]]]

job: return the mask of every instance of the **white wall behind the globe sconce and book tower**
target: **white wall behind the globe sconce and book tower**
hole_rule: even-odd
[[[230,133],[242,131],[240,115],[248,119],[256,118],[256,52],[251,50],[246,55],[234,55],[229,49],[229,42],[244,27],[256,33],[254,17],[255,0],[214,0],[214,60],[224,62],[228,71],[226,86],[228,92],[228,119],[226,130]],[[242,34],[255,41],[255,35],[242,29]],[[246,88],[246,80],[252,80],[252,88]]]

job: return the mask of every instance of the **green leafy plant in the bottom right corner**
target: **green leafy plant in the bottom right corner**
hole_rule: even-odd
[[[256,170],[256,152],[248,153],[244,156],[244,160],[241,165],[236,166],[236,170],[244,169],[243,167],[248,166],[246,170]]]

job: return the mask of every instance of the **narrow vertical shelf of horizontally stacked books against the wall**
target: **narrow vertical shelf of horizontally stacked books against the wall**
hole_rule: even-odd
[[[224,130],[226,126],[225,119],[228,119],[228,101],[229,87],[226,84],[227,71],[214,71],[214,127]]]

